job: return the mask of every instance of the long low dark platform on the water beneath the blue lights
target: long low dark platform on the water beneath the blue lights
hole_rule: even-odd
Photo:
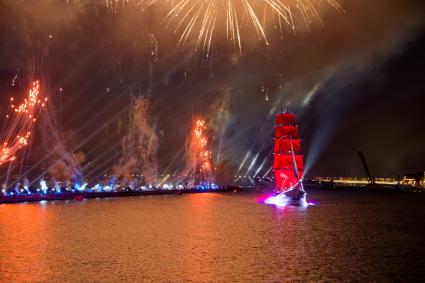
[[[31,194],[31,195],[13,195],[0,196],[0,204],[2,203],[22,203],[22,202],[38,202],[52,200],[75,200],[91,198],[111,198],[111,197],[132,197],[132,196],[150,196],[150,195],[181,195],[195,193],[226,193],[233,192],[234,187],[225,187],[219,189],[182,189],[182,190],[155,190],[155,191],[122,191],[122,192],[64,192],[52,194]]]

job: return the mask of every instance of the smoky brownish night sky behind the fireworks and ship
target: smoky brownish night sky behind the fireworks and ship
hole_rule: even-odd
[[[358,149],[375,176],[425,169],[423,1],[341,1],[344,11],[323,9],[309,31],[268,30],[270,46],[245,28],[242,55],[218,32],[208,58],[178,47],[154,8],[67,2],[0,1],[1,105],[31,76],[63,88],[64,127],[102,170],[120,155],[130,94],[152,99],[162,171],[180,167],[193,113],[209,119],[215,159],[237,170],[251,152],[239,172],[257,154],[249,172],[266,160],[265,172],[273,116],[287,105],[308,176],[363,175]]]

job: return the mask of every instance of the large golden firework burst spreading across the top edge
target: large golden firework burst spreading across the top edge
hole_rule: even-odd
[[[166,26],[173,26],[184,45],[195,37],[195,50],[203,49],[208,55],[216,30],[224,30],[227,39],[242,52],[242,29],[249,23],[260,39],[269,45],[266,29],[269,26],[295,32],[301,19],[307,27],[321,22],[319,8],[330,6],[341,10],[339,0],[135,0],[142,7],[159,6],[166,11]],[[114,2],[111,7],[127,1]],[[134,1],[133,1],[134,2]]]

